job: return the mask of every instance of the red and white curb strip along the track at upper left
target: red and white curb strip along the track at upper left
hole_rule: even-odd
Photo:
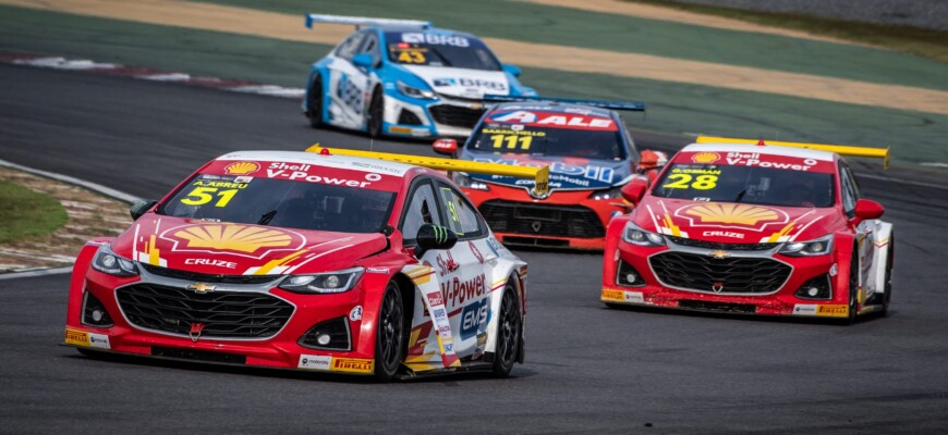
[[[89,73],[127,76],[143,80],[178,83],[228,90],[231,92],[255,94],[269,97],[301,99],[306,94],[302,88],[287,88],[277,85],[263,85],[247,80],[231,80],[217,77],[196,77],[191,74],[158,71],[141,66],[126,66],[118,63],[99,63],[87,59],[66,59],[33,53],[0,52],[0,63],[45,67],[52,70],[84,71]]]

